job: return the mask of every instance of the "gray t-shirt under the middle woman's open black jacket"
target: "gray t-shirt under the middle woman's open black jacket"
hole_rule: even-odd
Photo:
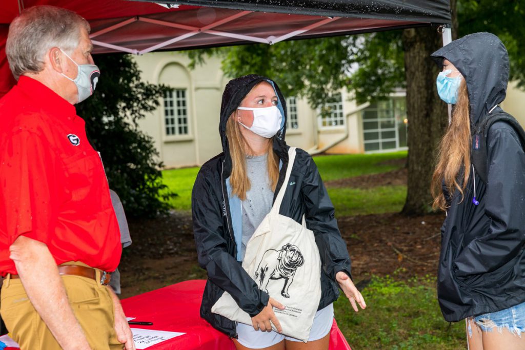
[[[241,257],[244,260],[246,244],[259,227],[262,219],[270,213],[274,192],[271,190],[268,178],[268,155],[247,156],[246,173],[251,187],[246,192],[246,200],[242,201],[243,207],[243,244]]]

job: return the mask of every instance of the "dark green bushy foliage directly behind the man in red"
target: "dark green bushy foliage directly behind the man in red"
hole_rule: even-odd
[[[77,105],[86,120],[91,143],[100,152],[109,187],[131,217],[166,213],[161,198],[173,196],[162,183],[158,152],[150,136],[138,128],[145,113],[159,107],[166,87],[140,80],[137,63],[129,55],[98,55],[101,76],[97,90]]]

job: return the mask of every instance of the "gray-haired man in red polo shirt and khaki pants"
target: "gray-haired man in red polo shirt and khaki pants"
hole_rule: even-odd
[[[121,254],[107,179],[74,107],[100,75],[89,29],[51,6],[9,27],[18,84],[0,100],[0,312],[22,349],[135,349],[107,286]]]

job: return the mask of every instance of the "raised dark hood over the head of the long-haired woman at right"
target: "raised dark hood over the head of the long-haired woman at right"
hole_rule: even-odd
[[[439,67],[449,60],[467,82],[470,120],[477,125],[505,100],[509,81],[509,55],[501,40],[490,33],[474,33],[454,40],[431,57]]]

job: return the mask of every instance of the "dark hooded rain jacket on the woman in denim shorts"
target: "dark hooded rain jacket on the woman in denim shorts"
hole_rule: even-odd
[[[475,33],[432,54],[449,60],[466,80],[470,129],[506,96],[509,58],[497,36]],[[495,111],[500,111],[496,107]],[[475,171],[461,200],[449,200],[441,229],[438,300],[447,321],[507,309],[525,301],[525,154],[516,131],[503,121],[487,136],[487,184]],[[462,178],[463,176],[461,176]],[[474,183],[475,182],[475,183]],[[472,203],[476,185],[479,205]]]

